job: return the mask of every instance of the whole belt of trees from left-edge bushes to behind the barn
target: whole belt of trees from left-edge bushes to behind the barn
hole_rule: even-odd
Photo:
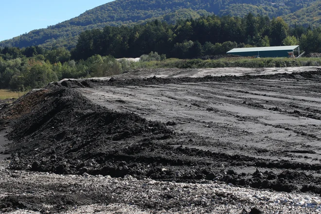
[[[225,54],[236,47],[297,45],[321,52],[321,28],[289,27],[282,18],[215,15],[168,24],[106,26],[80,34],[76,47],[0,48],[0,89],[40,88],[63,78],[107,76],[130,69],[122,57],[142,61]],[[147,55],[148,54],[148,55]]]

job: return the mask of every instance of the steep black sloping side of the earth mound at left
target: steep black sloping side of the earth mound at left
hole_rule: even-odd
[[[30,106],[22,105],[26,103]],[[87,165],[94,165],[98,172],[106,165],[97,162],[125,155],[139,139],[173,135],[164,124],[93,105],[77,91],[57,86],[26,95],[1,114],[11,119],[20,115],[8,135],[15,142],[11,146],[15,169],[84,173]]]

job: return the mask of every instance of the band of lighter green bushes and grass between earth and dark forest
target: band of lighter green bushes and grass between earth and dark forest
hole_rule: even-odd
[[[206,59],[210,58],[210,59]],[[320,66],[321,58],[252,58],[235,55],[214,55],[196,59],[166,59],[165,54],[150,52],[141,55],[138,62],[125,58],[116,60],[112,56],[93,55],[86,60],[51,62],[39,57],[4,59],[0,56],[0,89],[28,91],[42,88],[50,82],[65,78],[102,77],[121,74],[138,69],[178,68],[273,68]],[[11,95],[8,95],[11,97]]]

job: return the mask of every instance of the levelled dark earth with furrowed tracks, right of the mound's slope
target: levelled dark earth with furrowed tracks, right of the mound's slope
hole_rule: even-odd
[[[320,74],[93,81],[92,88],[80,91],[100,106],[174,130],[166,157],[183,159],[182,166],[169,163],[170,169],[183,170],[157,178],[214,178],[319,194]]]

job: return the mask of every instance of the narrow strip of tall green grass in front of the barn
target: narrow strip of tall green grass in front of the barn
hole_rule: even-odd
[[[131,63],[131,70],[153,69],[153,68],[179,68],[179,69],[201,69],[201,68],[281,68],[297,66],[321,66],[321,58],[222,58],[216,60],[201,59],[166,59],[163,61],[134,62]]]

